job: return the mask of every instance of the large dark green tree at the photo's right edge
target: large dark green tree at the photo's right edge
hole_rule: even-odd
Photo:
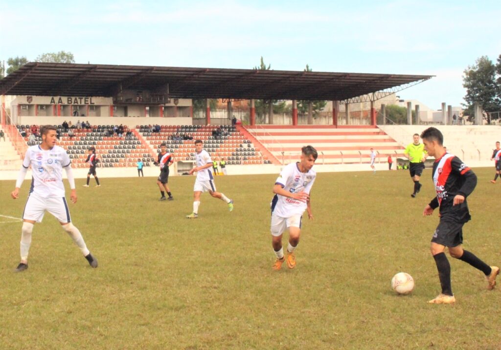
[[[468,66],[464,70],[463,87],[466,89],[466,109],[478,103],[485,112],[501,110],[501,56],[497,60],[497,66],[487,56],[478,58],[475,65]],[[496,77],[497,76],[497,77]],[[497,78],[497,79],[496,79]]]

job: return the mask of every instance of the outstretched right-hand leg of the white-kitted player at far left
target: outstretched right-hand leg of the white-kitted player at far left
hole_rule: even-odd
[[[80,251],[87,259],[89,264],[96,268],[97,260],[94,258],[85,244],[84,237],[78,230],[77,227],[71,222],[70,209],[68,208],[68,203],[66,198],[49,198],[47,211],[54,215],[61,224],[61,227],[68,233],[68,235],[73,239],[75,244],[80,248]]]

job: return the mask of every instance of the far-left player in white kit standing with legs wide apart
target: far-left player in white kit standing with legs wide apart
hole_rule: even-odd
[[[56,146],[57,137],[55,127],[51,125],[42,126],[40,134],[42,135],[42,143],[30,147],[26,151],[23,166],[16,181],[16,189],[11,193],[12,198],[17,199],[19,197],[19,189],[25,179],[28,168],[31,166],[33,173],[32,184],[23,212],[21,263],[16,268],[16,272],[21,272],[28,268],[28,253],[32,241],[33,226],[35,222],[42,222],[45,211],[48,211],[58,219],[63,229],[80,248],[89,264],[96,268],[97,259],[87,249],[84,238],[78,228],[73,226],[70,218],[70,210],[66,203],[62,176],[63,168],[70,183],[70,199],[73,203],[77,202],[71,160],[65,149]]]

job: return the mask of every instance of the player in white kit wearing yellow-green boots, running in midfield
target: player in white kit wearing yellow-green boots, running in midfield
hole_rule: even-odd
[[[198,217],[198,207],[200,206],[200,195],[202,192],[209,192],[214,198],[219,198],[228,203],[229,211],[233,211],[233,201],[227,198],[223,193],[216,192],[216,185],[210,168],[212,160],[210,155],[203,149],[202,140],[195,141],[195,158],[196,166],[189,171],[189,174],[196,172],[195,185],[193,186],[193,212],[186,215],[187,219],[195,219]]]

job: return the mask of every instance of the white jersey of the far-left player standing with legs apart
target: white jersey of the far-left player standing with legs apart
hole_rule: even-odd
[[[32,166],[30,193],[43,198],[64,197],[63,167],[70,164],[70,157],[62,147],[54,146],[50,150],[43,150],[37,145],[28,148],[23,166]]]

